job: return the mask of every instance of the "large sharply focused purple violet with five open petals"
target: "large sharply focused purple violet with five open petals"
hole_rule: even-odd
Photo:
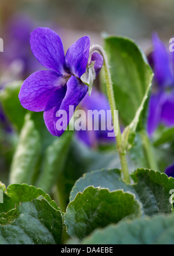
[[[75,109],[88,91],[88,86],[80,78],[88,65],[90,39],[87,36],[80,38],[64,56],[59,35],[48,28],[39,27],[32,31],[30,44],[32,53],[49,70],[35,72],[24,81],[19,93],[21,105],[30,111],[44,111],[49,132],[53,136],[61,136],[64,129],[61,129],[61,123],[57,129],[57,121],[61,118],[59,112],[66,111],[65,123],[68,125],[73,116],[69,106]],[[98,73],[103,58],[95,54],[92,59]]]

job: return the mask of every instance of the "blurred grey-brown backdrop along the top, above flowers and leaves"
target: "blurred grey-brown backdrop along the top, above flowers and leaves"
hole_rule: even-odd
[[[26,16],[31,27],[57,27],[65,47],[85,34],[100,44],[101,33],[126,35],[143,47],[153,31],[165,40],[173,35],[172,0],[1,0],[0,8],[1,37],[12,17]]]

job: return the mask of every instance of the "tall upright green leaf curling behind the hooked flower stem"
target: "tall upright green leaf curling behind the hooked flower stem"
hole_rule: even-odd
[[[132,144],[135,131],[146,127],[153,72],[134,41],[113,36],[104,38],[104,42],[119,118],[124,126],[129,125],[129,143]]]

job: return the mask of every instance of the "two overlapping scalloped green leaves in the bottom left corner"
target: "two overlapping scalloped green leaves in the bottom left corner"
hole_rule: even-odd
[[[1,188],[0,244],[61,243],[61,212],[48,194],[27,184]]]

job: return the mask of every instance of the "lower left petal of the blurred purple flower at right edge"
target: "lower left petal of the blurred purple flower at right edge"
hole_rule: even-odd
[[[150,97],[147,119],[147,131],[150,137],[160,124],[163,98],[162,93],[152,94]]]

